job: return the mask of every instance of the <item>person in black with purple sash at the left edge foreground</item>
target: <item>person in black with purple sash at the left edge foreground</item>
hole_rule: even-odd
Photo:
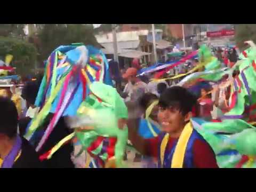
[[[38,154],[18,132],[18,111],[13,101],[0,97],[0,166],[41,168]]]

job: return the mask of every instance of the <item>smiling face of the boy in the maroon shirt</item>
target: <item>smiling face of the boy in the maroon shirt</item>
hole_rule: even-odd
[[[187,115],[183,116],[177,108],[159,107],[158,122],[167,133],[181,133],[187,120]]]

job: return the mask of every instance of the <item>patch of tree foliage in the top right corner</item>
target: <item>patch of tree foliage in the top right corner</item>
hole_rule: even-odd
[[[245,41],[256,42],[256,24],[235,25],[235,41],[239,49],[245,49]]]

